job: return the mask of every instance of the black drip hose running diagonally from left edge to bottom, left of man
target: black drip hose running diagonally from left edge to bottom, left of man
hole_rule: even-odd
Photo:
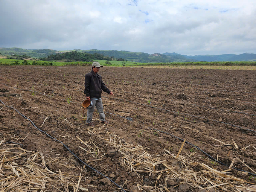
[[[60,140],[55,139],[54,137],[50,136],[49,134],[47,134],[46,132],[40,130],[33,122],[32,120],[30,120],[29,118],[27,118],[26,116],[24,116],[23,114],[21,114],[17,109],[10,107],[6,104],[3,103],[3,101],[0,99],[0,101],[2,102],[3,105],[5,105],[6,107],[12,108],[15,111],[17,111],[21,116],[23,116],[25,119],[29,120],[32,125],[37,128],[37,130],[41,131],[42,133],[46,134],[48,137],[50,137],[53,140],[56,140],[58,142],[60,142],[69,152],[72,153],[72,155],[74,155],[81,163],[83,163],[84,165],[88,166],[89,168],[91,168],[93,171],[97,172],[98,174],[102,175],[103,177],[107,178],[108,180],[110,180],[112,183],[114,183],[117,187],[119,187],[120,189],[122,189],[124,192],[126,192],[122,187],[120,187],[118,184],[116,184],[114,181],[112,181],[110,178],[108,178],[106,175],[102,174],[101,172],[97,171],[96,169],[92,168],[90,165],[87,165],[85,162],[83,162],[78,156],[76,156],[64,143],[62,143]]]

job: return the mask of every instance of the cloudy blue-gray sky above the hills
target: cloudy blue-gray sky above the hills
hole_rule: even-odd
[[[256,53],[255,0],[0,0],[0,47]]]

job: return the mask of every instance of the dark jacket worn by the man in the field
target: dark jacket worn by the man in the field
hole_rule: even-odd
[[[111,92],[102,81],[101,75],[97,75],[91,70],[85,75],[84,94],[91,98],[101,98],[102,90],[108,94]]]

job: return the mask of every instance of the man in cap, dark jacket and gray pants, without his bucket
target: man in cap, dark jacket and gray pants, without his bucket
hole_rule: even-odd
[[[109,122],[105,120],[105,114],[103,112],[103,105],[101,101],[101,93],[103,90],[110,95],[114,96],[114,94],[106,87],[106,85],[102,81],[101,75],[98,74],[99,69],[103,66],[101,66],[99,62],[93,62],[91,67],[91,72],[85,75],[84,84],[84,94],[86,96],[86,99],[91,99],[91,101],[93,102],[93,106],[87,110],[86,125],[94,126],[94,123],[91,122],[91,120],[93,119],[93,112],[95,107],[99,112],[101,123],[109,124]]]

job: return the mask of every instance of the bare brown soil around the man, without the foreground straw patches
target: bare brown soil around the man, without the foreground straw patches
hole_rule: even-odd
[[[103,126],[95,111],[94,128],[85,125],[86,117],[82,114],[84,75],[88,72],[90,67],[1,67],[0,99],[32,120],[38,128],[48,117],[41,127],[43,131],[61,140],[93,168],[109,177],[113,176],[114,181],[120,177],[120,186],[127,180],[124,188],[142,184],[142,180],[145,182],[145,178],[151,177],[147,173],[134,175],[131,169],[119,162],[120,153],[111,155],[111,149],[116,149],[106,142],[109,139],[108,132],[134,146],[143,146],[159,158],[164,159],[164,149],[177,154],[183,142],[150,129],[154,128],[186,139],[227,165],[238,157],[256,170],[256,134],[253,132],[256,131],[255,71],[103,67],[99,73],[114,93],[114,97],[102,94],[104,110],[108,112],[105,113],[106,119],[110,125]],[[15,88],[38,91],[50,97]],[[38,131],[13,109],[4,107],[2,103],[0,108],[0,138],[5,137],[6,142],[22,143],[28,151],[42,151],[45,157],[70,156],[70,152],[60,143]],[[130,117],[133,122],[110,113]],[[87,153],[79,148],[82,144],[77,136],[96,151]],[[24,137],[26,139],[18,140]],[[235,148],[232,140],[239,149]],[[216,146],[223,143],[232,145]],[[246,146],[249,147],[241,150]],[[85,145],[82,147],[90,149]],[[97,151],[100,152],[97,154]],[[216,165],[203,152],[188,144],[184,145],[181,154],[189,155],[192,152],[196,152],[193,159],[197,162],[219,171],[228,169]],[[83,166],[75,157],[72,159],[76,161],[76,166]],[[95,159],[102,160],[93,161]],[[49,166],[52,171],[61,169],[61,166]],[[235,160],[233,167],[252,172],[238,160]],[[114,184],[104,183],[101,175],[84,168],[81,184],[89,191],[120,191]],[[77,171],[79,174],[80,170]],[[230,174],[256,183],[255,177],[251,179],[250,175],[239,171],[232,170]],[[91,180],[90,183],[86,183],[84,178]],[[154,186],[154,182],[151,184]]]

